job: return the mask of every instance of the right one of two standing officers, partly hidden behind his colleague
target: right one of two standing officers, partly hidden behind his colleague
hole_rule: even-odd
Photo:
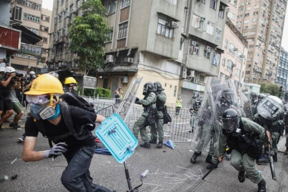
[[[161,85],[161,82],[154,83],[155,89],[157,91],[157,99],[156,99],[156,108],[157,108],[157,116],[156,116],[156,126],[152,125],[151,128],[151,140],[149,143],[156,144],[157,143],[157,132],[159,135],[159,143],[156,146],[157,148],[162,148],[163,146],[163,138],[164,138],[164,122],[163,122],[163,110],[164,105],[166,103],[166,94],[164,93],[164,88]]]

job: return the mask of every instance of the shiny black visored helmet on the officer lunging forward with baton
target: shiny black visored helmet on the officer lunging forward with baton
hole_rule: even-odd
[[[227,109],[222,113],[222,126],[225,130],[233,130],[239,128],[240,116],[235,109]]]

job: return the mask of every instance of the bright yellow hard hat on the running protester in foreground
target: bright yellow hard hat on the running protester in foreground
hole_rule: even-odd
[[[51,74],[43,74],[37,77],[32,82],[30,91],[25,92],[26,95],[44,95],[49,93],[64,94],[61,82]]]

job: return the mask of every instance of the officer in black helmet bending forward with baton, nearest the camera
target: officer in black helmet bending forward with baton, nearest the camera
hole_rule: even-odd
[[[266,191],[266,182],[257,171],[255,164],[266,142],[265,130],[248,118],[240,118],[237,111],[227,109],[223,112],[222,131],[219,137],[218,161],[222,162],[226,147],[231,150],[230,164],[239,171],[238,180],[247,177],[258,184],[258,192]]]

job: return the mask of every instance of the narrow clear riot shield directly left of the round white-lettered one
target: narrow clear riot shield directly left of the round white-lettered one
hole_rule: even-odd
[[[246,117],[249,119],[252,119],[252,117],[254,116],[254,113],[253,113],[251,99],[250,99],[250,94],[251,94],[250,87],[241,87],[239,92],[240,92],[239,97],[240,97],[242,109],[246,113]]]

